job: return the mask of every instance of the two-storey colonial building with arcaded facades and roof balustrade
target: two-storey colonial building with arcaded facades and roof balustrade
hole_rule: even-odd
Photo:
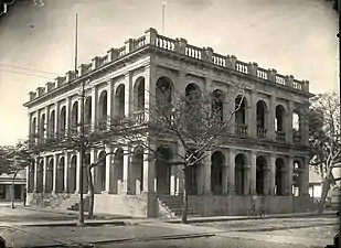
[[[82,64],[78,72],[78,76],[67,72],[30,93],[24,104],[30,134],[46,137],[79,121],[82,82],[87,93],[85,121],[93,125],[106,116],[135,115],[143,120],[145,114],[134,103],[162,94],[160,88],[223,93],[226,107],[234,110],[241,96],[233,86],[245,85],[245,98],[232,120],[231,143],[207,151],[210,157],[192,168],[190,208],[204,216],[241,215],[256,201],[268,213],[306,209],[309,82],[217,54],[211,47],[190,45],[184,39],[162,36],[154,29]],[[152,145],[169,154],[184,152],[177,143]],[[115,149],[115,154],[94,170],[95,213],[179,214],[183,190],[179,166],[143,160],[138,147],[107,149]],[[120,155],[126,149],[136,154]],[[94,161],[99,152],[87,153],[86,161]],[[29,202],[74,204],[79,193],[79,155],[73,151],[41,155],[28,169]]]

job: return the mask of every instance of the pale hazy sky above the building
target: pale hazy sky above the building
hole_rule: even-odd
[[[162,33],[162,0],[44,2],[19,2],[0,21],[0,145],[26,138],[28,93],[74,68],[75,14],[79,63]],[[307,79],[311,93],[338,90],[338,17],[324,0],[168,0],[164,20],[167,36]]]

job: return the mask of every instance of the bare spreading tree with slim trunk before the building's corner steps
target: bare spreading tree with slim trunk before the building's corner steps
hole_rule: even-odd
[[[189,170],[201,163],[207,151],[227,143],[234,136],[233,126],[235,114],[241,110],[244,101],[244,89],[236,90],[237,103],[227,103],[227,96],[216,90],[204,94],[192,87],[185,94],[172,94],[171,89],[160,89],[149,103],[140,106],[145,118],[132,115],[126,121],[126,131],[120,137],[126,143],[139,144],[154,160],[169,165],[182,168],[183,176],[183,214],[182,223],[188,222]],[[148,107],[146,107],[148,106]],[[107,137],[110,142],[110,137]],[[184,152],[174,152],[173,158],[167,158],[154,149],[153,144],[178,142]]]

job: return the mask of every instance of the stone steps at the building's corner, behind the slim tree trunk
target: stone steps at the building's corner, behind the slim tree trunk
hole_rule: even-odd
[[[183,211],[182,196],[162,195],[158,197],[161,207],[168,212],[169,218],[181,218]],[[193,208],[188,208],[188,217],[200,217]]]

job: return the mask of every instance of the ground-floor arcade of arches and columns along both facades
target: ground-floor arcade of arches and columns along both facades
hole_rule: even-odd
[[[137,147],[129,155],[122,148],[94,168],[95,194],[139,195],[156,192],[158,195],[179,195],[183,191],[183,171],[164,161],[173,159],[172,149],[160,145],[162,159],[147,160],[142,148]],[[100,152],[85,157],[92,163]],[[238,151],[225,149],[211,152],[201,164],[191,166],[188,174],[191,195],[306,195],[309,172],[305,158]],[[36,166],[35,166],[36,164]],[[29,193],[78,193],[78,154],[45,157],[28,169]],[[84,193],[87,192],[87,174],[84,170]]]

